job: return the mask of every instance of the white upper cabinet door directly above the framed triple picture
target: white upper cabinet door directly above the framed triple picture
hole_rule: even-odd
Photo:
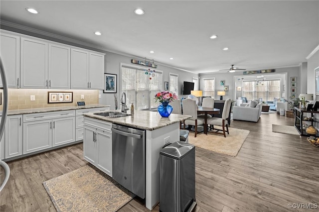
[[[71,48],[49,44],[48,88],[71,88]]]

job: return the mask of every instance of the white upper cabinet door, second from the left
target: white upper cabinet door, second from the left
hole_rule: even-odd
[[[21,37],[21,88],[48,86],[48,43]]]

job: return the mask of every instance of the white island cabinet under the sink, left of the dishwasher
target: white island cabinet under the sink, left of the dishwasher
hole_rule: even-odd
[[[87,122],[86,122],[87,120]],[[112,177],[112,123],[84,117],[84,159]]]

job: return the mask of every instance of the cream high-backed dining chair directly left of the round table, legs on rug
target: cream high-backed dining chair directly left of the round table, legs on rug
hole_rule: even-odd
[[[195,126],[195,137],[197,136],[197,126],[202,125],[205,123],[205,119],[202,117],[197,117],[197,106],[196,101],[192,99],[183,99],[183,114],[184,115],[191,115],[191,118],[188,118],[184,121],[184,129],[185,125],[192,125]]]

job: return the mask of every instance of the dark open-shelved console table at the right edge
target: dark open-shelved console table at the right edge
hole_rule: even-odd
[[[304,113],[311,113],[311,117],[307,117]],[[319,111],[312,110],[302,110],[299,107],[295,107],[295,127],[303,136],[312,136],[306,132],[306,129],[303,127],[303,124],[311,124],[314,125],[315,122],[319,122],[319,119],[315,118],[314,113],[319,113]],[[310,120],[305,120],[305,118],[310,118]],[[318,134],[318,133],[317,133]],[[315,136],[315,135],[313,135]]]

